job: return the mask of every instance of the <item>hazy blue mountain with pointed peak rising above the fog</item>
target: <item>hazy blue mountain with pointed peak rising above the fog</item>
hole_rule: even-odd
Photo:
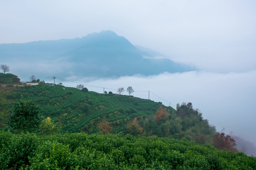
[[[25,78],[51,76],[119,77],[185,72],[195,68],[166,56],[132,45],[113,31],[101,31],[82,38],[0,44],[0,55],[12,73]],[[161,56],[161,58],[157,58]],[[24,68],[27,67],[26,71]],[[30,73],[29,73],[30,72]],[[43,74],[44,73],[44,74]]]

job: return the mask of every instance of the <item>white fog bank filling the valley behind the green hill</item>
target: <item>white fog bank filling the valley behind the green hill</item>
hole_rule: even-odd
[[[103,93],[103,88],[105,91],[116,93],[116,89],[119,87],[126,89],[128,86],[132,86],[135,91],[132,95],[135,97],[149,97],[150,100],[160,101],[165,106],[170,105],[173,108],[176,108],[177,103],[191,102],[193,108],[198,108],[201,111],[204,119],[208,119],[209,123],[217,127],[217,131],[225,127],[226,134],[232,131],[236,136],[255,142],[255,77],[256,70],[226,74],[194,71],[94,81],[74,76],[67,78],[73,82],[58,78],[55,82],[72,87],[77,84],[85,84],[89,91],[99,93]],[[127,92],[124,94],[128,95]]]

